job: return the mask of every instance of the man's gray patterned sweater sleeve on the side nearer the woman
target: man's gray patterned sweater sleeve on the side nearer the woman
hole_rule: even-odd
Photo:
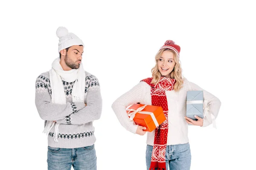
[[[66,118],[57,120],[57,123],[81,125],[94,120],[98,120],[102,113],[102,96],[100,92],[99,80],[91,75],[88,88],[85,89],[87,93],[85,102],[86,107],[75,111]]]

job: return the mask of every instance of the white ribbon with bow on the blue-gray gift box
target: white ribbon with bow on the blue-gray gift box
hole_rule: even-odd
[[[207,120],[212,123],[212,126],[216,129],[216,121],[215,116],[210,113],[208,101],[207,100],[191,100],[187,101],[186,104],[204,104],[204,116],[207,118]]]

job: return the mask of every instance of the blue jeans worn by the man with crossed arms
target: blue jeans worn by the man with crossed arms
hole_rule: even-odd
[[[73,149],[48,146],[48,170],[96,170],[96,159],[94,144]]]

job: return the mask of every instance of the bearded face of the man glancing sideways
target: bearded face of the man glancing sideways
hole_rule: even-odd
[[[79,45],[71,46],[64,58],[66,65],[73,69],[78,69],[82,60],[82,54],[84,52],[84,47]]]

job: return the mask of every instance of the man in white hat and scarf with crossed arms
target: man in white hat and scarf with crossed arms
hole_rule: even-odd
[[[35,105],[48,134],[48,170],[96,170],[93,121],[101,116],[99,81],[84,71],[83,42],[59,27],[52,69],[36,79]]]

